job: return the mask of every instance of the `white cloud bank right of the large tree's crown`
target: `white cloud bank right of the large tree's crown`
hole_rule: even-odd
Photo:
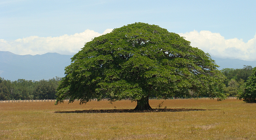
[[[179,35],[186,37],[191,46],[209,53],[212,57],[256,60],[256,34],[247,43],[238,38],[225,39],[221,34],[210,31],[191,31]]]

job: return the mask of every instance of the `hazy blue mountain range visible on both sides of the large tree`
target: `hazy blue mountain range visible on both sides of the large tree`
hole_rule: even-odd
[[[9,51],[0,51],[0,77],[6,80],[48,80],[64,77],[65,67],[70,65],[72,55],[45,53],[43,55],[15,55]],[[214,58],[216,64],[223,68],[243,68],[244,65],[256,66],[256,61]]]

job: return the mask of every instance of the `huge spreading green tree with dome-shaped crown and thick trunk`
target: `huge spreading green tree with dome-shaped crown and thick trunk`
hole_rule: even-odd
[[[130,98],[135,110],[152,109],[149,97],[225,98],[224,75],[208,53],[176,33],[134,23],[95,37],[71,58],[57,89],[56,104]]]

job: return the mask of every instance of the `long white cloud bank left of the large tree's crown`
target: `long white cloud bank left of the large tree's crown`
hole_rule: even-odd
[[[113,29],[106,29],[102,34],[93,30],[85,30],[82,33],[73,35],[62,35],[58,37],[29,36],[19,38],[15,41],[0,39],[0,51],[10,51],[17,55],[42,55],[47,52],[57,52],[63,55],[74,55],[86,42],[94,37],[111,32]]]

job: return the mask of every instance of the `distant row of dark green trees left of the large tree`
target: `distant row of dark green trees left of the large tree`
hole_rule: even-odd
[[[10,81],[0,77],[0,100],[56,99],[56,89],[60,80],[60,77],[55,77],[40,81]]]

